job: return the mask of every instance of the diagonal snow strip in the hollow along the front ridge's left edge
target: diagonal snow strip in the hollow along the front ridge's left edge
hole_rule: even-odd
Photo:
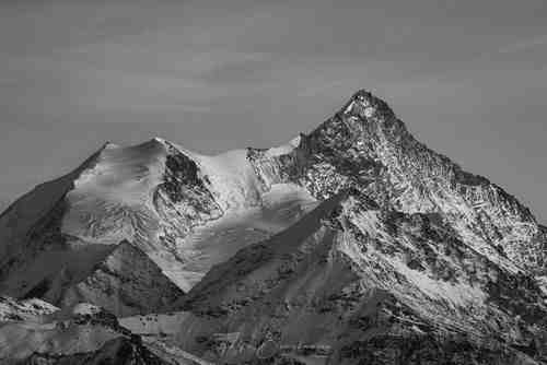
[[[165,274],[183,291],[189,291],[209,269],[228,260],[241,248],[260,242],[288,228],[317,201],[304,189],[290,184],[274,185],[263,196],[260,205],[233,210],[220,220],[196,228],[177,245],[181,264],[170,262],[161,252],[149,255],[159,262]]]

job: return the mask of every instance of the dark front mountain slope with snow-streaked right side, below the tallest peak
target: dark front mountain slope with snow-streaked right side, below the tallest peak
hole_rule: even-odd
[[[327,361],[318,349],[336,364],[535,364],[547,355],[546,299],[439,215],[341,192],[216,266],[177,305],[188,315],[176,338],[226,364],[256,362],[268,341],[272,357],[306,364]],[[237,333],[231,351],[219,332]],[[307,354],[287,351],[299,343]]]

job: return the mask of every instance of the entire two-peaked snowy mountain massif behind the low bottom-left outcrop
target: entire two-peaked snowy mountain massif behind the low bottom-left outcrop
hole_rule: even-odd
[[[167,363],[547,362],[547,228],[366,91],[279,148],[107,143],[0,251],[0,294],[101,306]]]

